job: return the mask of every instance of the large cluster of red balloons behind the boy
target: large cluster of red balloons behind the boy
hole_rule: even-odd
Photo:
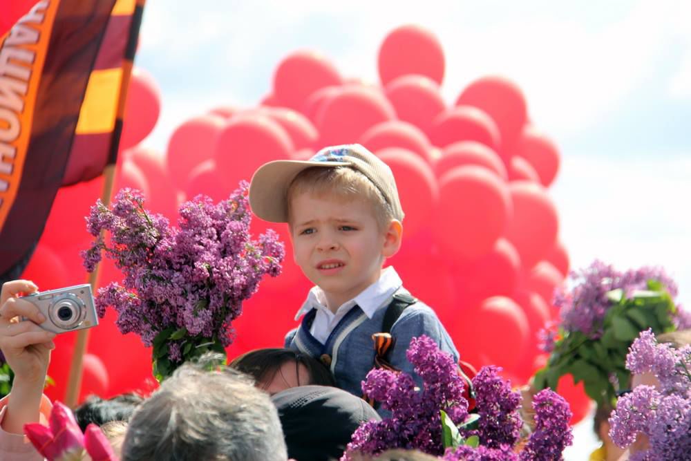
[[[536,335],[556,316],[553,290],[569,270],[547,191],[558,172],[558,149],[531,124],[520,88],[504,77],[477,79],[447,104],[439,91],[442,46],[422,28],[390,32],[378,66],[381,85],[363,84],[320,55],[293,53],[278,64],[272,93],[259,106],[220,106],[191,117],[172,133],[164,153],[136,145],[153,128],[160,98],[150,79],[135,75],[130,94],[139,96],[128,102],[118,187],[142,189],[150,209],[174,220],[184,198],[226,198],[264,162],[363,144],[397,180],[404,245],[389,262],[406,288],[435,309],[464,359],[477,368],[503,366],[522,384],[544,361]],[[42,288],[83,281],[77,251],[88,244],[84,216],[100,181],[59,192],[28,269],[37,282],[49,279]],[[310,288],[292,263],[285,225],[254,220],[254,232],[268,227],[287,244],[283,274],[263,281],[245,303],[229,355],[281,345]],[[101,284],[120,276],[107,264],[102,272]],[[91,335],[89,352],[108,372],[87,367],[86,373],[106,379],[91,379],[95,388],[85,391],[108,395],[141,386],[151,377],[148,351],[138,338],[119,335],[112,318],[103,323]],[[125,354],[137,364],[121,366]],[[574,413],[582,417],[585,410]]]

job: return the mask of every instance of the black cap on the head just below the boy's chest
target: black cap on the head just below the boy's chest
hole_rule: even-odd
[[[370,404],[335,387],[299,386],[271,399],[295,460],[338,460],[360,424],[381,420]]]

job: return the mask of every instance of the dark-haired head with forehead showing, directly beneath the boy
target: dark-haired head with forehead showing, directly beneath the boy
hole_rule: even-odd
[[[230,368],[254,377],[256,386],[274,395],[296,386],[335,386],[331,371],[319,360],[291,349],[265,348],[246,352]]]

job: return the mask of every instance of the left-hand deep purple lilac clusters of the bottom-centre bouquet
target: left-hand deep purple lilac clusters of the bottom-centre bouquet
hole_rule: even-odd
[[[441,455],[444,449],[439,411],[446,411],[455,424],[468,416],[463,379],[451,355],[423,335],[410,341],[407,357],[424,382],[422,390],[415,387],[413,377],[407,373],[370,371],[362,384],[363,393],[381,402],[391,416],[361,425],[342,460],[350,460],[353,453],[375,455],[392,448]]]

